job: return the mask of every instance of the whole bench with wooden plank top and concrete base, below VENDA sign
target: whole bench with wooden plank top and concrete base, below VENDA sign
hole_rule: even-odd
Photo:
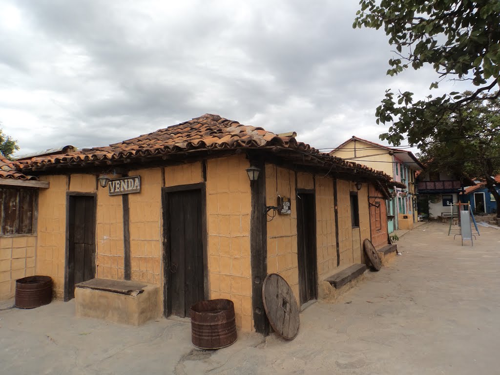
[[[74,299],[78,317],[140,325],[160,314],[158,285],[92,278],[75,285]]]

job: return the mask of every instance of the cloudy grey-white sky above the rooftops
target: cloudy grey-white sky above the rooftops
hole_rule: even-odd
[[[423,96],[435,74],[387,77],[387,37],[352,29],[357,8],[338,0],[0,0],[1,127],[17,139],[17,154],[105,145],[203,113],[294,130],[314,147],[351,135],[378,141],[384,90]]]

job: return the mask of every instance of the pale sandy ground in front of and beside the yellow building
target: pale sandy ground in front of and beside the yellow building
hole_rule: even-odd
[[[185,319],[129,327],[75,318],[72,302],[0,311],[5,374],[500,374],[500,229],[474,246],[426,223],[402,255],[336,303],[300,314],[292,341],[240,334],[198,350]]]

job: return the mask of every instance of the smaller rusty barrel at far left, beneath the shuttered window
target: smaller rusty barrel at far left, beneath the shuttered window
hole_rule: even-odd
[[[52,300],[49,276],[27,276],[15,280],[15,307],[34,308]]]

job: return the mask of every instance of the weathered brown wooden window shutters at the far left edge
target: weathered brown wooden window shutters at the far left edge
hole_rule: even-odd
[[[37,190],[0,188],[0,235],[31,234]]]

